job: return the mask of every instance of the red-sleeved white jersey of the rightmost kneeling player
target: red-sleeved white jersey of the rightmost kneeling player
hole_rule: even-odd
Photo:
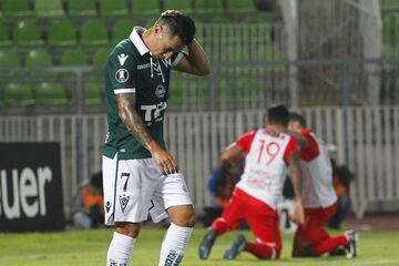
[[[332,167],[326,144],[309,130],[304,130],[301,134],[309,143],[299,152],[304,206],[328,207],[337,201],[337,195],[332,187]]]

